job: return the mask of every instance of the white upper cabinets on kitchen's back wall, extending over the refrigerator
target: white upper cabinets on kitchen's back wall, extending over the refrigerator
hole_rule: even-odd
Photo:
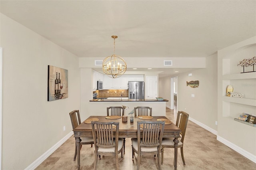
[[[144,75],[122,75],[118,78],[111,78],[104,75],[104,89],[128,89],[128,81],[144,81]]]

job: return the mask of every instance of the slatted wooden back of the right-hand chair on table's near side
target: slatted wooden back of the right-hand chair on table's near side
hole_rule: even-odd
[[[138,142],[140,146],[159,146],[162,142],[163,132],[164,132],[164,122],[148,122],[141,121],[137,122],[138,125],[138,139],[141,138],[141,142]],[[140,133],[140,127],[142,127],[142,133]],[[140,135],[142,134],[142,135]]]

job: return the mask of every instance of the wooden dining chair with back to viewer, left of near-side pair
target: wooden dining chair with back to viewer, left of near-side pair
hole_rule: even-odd
[[[92,136],[94,140],[94,170],[98,155],[115,155],[118,170],[118,154],[123,158],[123,138],[118,138],[119,122],[92,122]],[[115,129],[115,130],[114,130]]]

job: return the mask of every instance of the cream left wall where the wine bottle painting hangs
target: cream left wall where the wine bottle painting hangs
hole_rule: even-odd
[[[25,169],[72,131],[80,109],[78,57],[1,14],[2,169]],[[48,65],[68,69],[68,98],[47,101]],[[63,131],[66,126],[66,131]]]

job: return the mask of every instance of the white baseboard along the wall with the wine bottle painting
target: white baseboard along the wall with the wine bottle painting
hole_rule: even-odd
[[[38,167],[46,158],[48,158],[56,149],[58,149],[70,136],[74,134],[73,131],[69,132],[64,138],[62,138],[59,142],[54,144],[49,150],[47,150],[44,154],[42,154],[39,158],[37,158],[32,164],[30,164],[25,170],[34,170]]]

